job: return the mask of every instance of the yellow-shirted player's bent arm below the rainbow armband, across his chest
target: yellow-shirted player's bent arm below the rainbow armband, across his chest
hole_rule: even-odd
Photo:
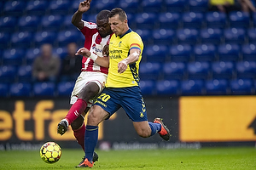
[[[127,58],[125,58],[125,59],[123,59],[123,60],[121,60],[119,62],[119,64],[118,64],[118,72],[119,73],[125,72],[128,65],[135,63],[139,59],[140,54],[141,54],[141,50],[140,49],[138,49],[138,48],[131,48],[130,55]]]

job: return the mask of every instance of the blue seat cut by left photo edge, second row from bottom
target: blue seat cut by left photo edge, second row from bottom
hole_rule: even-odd
[[[13,65],[0,66],[0,82],[15,82],[17,69]]]

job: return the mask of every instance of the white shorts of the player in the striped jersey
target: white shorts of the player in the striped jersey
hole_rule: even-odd
[[[105,82],[107,81],[107,77],[108,77],[108,75],[104,74],[102,72],[82,71],[75,83],[74,88],[73,88],[73,92],[71,94],[71,99],[70,99],[70,104],[73,105],[77,101],[79,92],[89,82],[96,82],[96,84],[100,88],[99,93],[98,93],[98,94],[100,94],[102,92],[102,89],[105,88]],[[94,99],[90,99],[87,107],[90,107],[93,104],[93,101],[94,101]]]

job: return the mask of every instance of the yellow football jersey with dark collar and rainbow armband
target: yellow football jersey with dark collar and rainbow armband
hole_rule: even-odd
[[[140,49],[140,57],[136,63],[128,65],[125,72],[119,74],[118,63],[129,56],[131,48]],[[142,54],[143,40],[135,31],[129,29],[121,37],[116,37],[113,34],[109,42],[109,69],[106,88],[138,86],[138,69]]]

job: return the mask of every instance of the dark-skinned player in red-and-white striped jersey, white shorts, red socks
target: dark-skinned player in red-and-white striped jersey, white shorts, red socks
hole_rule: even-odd
[[[90,8],[90,1],[79,3],[79,9],[73,14],[72,23],[81,31],[85,37],[84,48],[88,48],[91,54],[96,54],[99,58],[107,59],[103,56],[102,50],[113,33],[108,24],[108,14],[110,11],[102,10],[96,16],[96,24],[82,20],[84,12]],[[71,94],[71,108],[67,116],[61,120],[57,127],[57,133],[63,135],[67,132],[67,127],[71,125],[74,137],[84,150],[84,116],[90,109],[93,99],[102,92],[108,77],[108,65],[98,65],[93,59],[82,59],[82,70],[75,82]],[[97,155],[94,153],[94,161]]]

